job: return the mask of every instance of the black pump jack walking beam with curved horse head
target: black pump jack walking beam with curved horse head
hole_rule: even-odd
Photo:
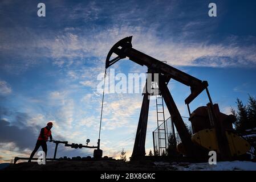
[[[112,53],[115,53],[117,57],[115,57],[113,60],[109,60]],[[194,98],[196,98],[208,86],[207,81],[201,81],[198,78],[173,68],[170,65],[165,64],[151,56],[148,56],[143,52],[133,49],[132,36],[121,39],[110,49],[107,55],[105,68],[107,69],[112,64],[116,63],[120,59],[124,59],[125,57],[129,57],[129,60],[132,60],[137,64],[147,66],[149,69],[154,70],[156,73],[162,73],[163,75],[169,76],[170,78],[173,78],[174,80],[181,82],[184,85],[190,86],[191,94],[186,98],[185,104],[192,102]]]

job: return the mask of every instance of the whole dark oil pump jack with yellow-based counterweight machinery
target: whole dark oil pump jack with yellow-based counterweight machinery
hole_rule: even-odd
[[[117,42],[107,55],[105,68],[107,69],[120,59],[128,57],[129,60],[132,60],[139,65],[147,66],[147,73],[152,73],[152,75],[155,74],[158,76],[158,79],[152,76],[150,80],[149,77],[147,77],[145,85],[147,92],[143,93],[143,103],[141,106],[131,159],[141,159],[145,156],[145,138],[150,101],[148,97],[152,95],[152,92],[148,89],[149,87],[147,85],[152,85],[152,82],[157,82],[157,85],[159,85],[159,94],[164,98],[172,121],[180,135],[182,143],[177,146],[179,152],[194,159],[202,159],[208,156],[209,151],[214,150],[217,152],[218,160],[233,160],[236,156],[246,154],[246,152],[250,150],[250,144],[234,133],[232,123],[235,121],[235,118],[232,115],[221,113],[218,104],[213,104],[207,81],[201,81],[198,78],[173,68],[145,53],[137,51],[132,48],[131,42],[132,36]],[[110,60],[113,53],[115,53],[117,57]],[[185,99],[185,104],[188,107],[190,115],[189,120],[192,123],[192,136],[189,134],[167,87],[170,79],[174,79],[186,86],[190,86],[191,93]],[[198,107],[190,113],[190,102],[204,90],[206,90],[208,95],[209,103],[206,106]]]

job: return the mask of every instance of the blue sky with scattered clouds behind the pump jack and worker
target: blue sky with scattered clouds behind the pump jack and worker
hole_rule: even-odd
[[[39,2],[46,17],[37,16]],[[210,2],[217,17],[208,16]],[[1,1],[1,162],[29,156],[48,121],[54,121],[54,139],[90,138],[96,145],[102,96],[97,75],[109,49],[125,36],[133,35],[133,48],[207,80],[213,102],[229,114],[237,97],[246,102],[248,94],[256,95],[255,7],[255,1]],[[125,75],[147,71],[127,59],[112,68]],[[176,81],[168,86],[188,116],[189,88]],[[141,94],[105,95],[103,155],[118,157],[122,148],[131,154],[141,101]],[[207,102],[203,93],[192,110]],[[155,107],[152,102],[147,152],[153,149]],[[59,156],[92,152],[59,147]]]

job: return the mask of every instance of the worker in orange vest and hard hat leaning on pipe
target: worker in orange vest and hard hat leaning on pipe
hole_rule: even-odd
[[[45,154],[47,154],[47,144],[46,141],[48,140],[48,137],[50,137],[50,141],[52,140],[51,135],[51,128],[52,128],[52,122],[48,122],[46,127],[43,127],[40,131],[39,137],[35,144],[35,149],[32,151],[29,162],[31,162],[31,159],[35,155],[35,152],[38,151],[38,148],[42,146],[43,151]]]

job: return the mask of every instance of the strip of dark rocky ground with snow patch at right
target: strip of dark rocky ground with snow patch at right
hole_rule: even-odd
[[[61,160],[39,165],[36,162],[10,164],[5,171],[256,171],[255,162],[233,161],[208,163],[152,162],[148,160],[124,162],[123,160],[68,161]]]

